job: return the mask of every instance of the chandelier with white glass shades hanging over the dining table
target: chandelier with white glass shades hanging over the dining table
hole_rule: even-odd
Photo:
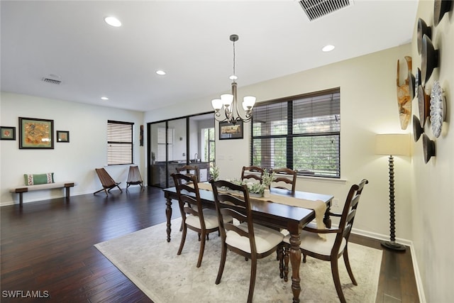
[[[236,77],[235,74],[235,42],[238,41],[238,35],[230,35],[230,40],[233,42],[233,75],[230,76],[232,82],[232,93],[221,94],[221,99],[211,100],[211,106],[214,108],[214,119],[220,122],[228,122],[235,125],[239,121],[249,122],[252,119],[253,106],[255,104],[255,97],[246,96],[243,98],[243,112],[244,117],[240,114],[238,109],[238,100],[236,97]],[[223,114],[221,109],[223,108]]]

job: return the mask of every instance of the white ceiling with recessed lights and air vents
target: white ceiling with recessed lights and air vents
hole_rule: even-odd
[[[295,0],[2,0],[1,90],[138,111],[209,102],[230,89],[232,33],[240,89],[409,43],[417,6],[354,0],[309,21]],[[106,16],[123,25],[108,26]],[[326,44],[336,49],[321,52]]]

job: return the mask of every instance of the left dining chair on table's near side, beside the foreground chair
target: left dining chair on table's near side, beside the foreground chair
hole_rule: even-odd
[[[200,250],[196,267],[199,268],[204,258],[205,241],[208,234],[218,231],[218,215],[214,209],[204,209],[201,205],[199,186],[195,175],[172,174],[177,189],[179,211],[182,214],[182,240],[177,255],[182,253],[186,241],[187,229],[199,234]]]

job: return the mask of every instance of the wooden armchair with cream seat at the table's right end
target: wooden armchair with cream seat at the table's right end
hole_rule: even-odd
[[[350,261],[348,260],[348,238],[352,230],[353,220],[355,219],[356,209],[362,189],[368,181],[363,179],[359,184],[353,184],[348,192],[345,205],[343,206],[342,214],[329,213],[330,216],[341,217],[338,228],[316,229],[311,227],[304,227],[301,232],[301,253],[303,253],[303,262],[306,263],[306,255],[317,258],[319,260],[326,260],[331,262],[331,274],[333,275],[334,285],[336,292],[341,302],[345,302],[345,297],[342,292],[341,280],[339,280],[338,258],[343,255],[345,268],[347,268],[348,275],[353,282],[353,285],[358,285],[353,276],[352,269],[350,268]],[[318,233],[326,234],[326,241],[324,241]],[[290,237],[284,238],[284,280],[287,281],[288,264],[289,264],[289,240]],[[282,272],[281,272],[282,277]]]

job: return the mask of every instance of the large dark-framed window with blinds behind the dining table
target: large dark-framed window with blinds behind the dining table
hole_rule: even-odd
[[[251,144],[252,165],[341,177],[340,89],[256,105]]]

